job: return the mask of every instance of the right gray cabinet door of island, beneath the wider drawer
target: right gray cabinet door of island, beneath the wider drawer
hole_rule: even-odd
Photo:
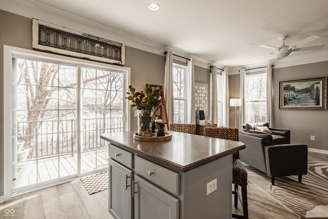
[[[179,218],[178,198],[134,175],[134,218],[135,219],[177,219]]]

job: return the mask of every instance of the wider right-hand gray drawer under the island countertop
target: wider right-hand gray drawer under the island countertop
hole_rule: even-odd
[[[167,189],[173,194],[179,194],[179,173],[158,166],[138,156],[135,156],[134,159],[134,169],[151,182]]]

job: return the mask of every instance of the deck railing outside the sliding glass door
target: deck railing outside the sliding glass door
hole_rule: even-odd
[[[38,134],[27,130],[31,122],[17,122],[20,135],[17,141],[25,141],[24,147],[31,148],[31,156],[43,157],[59,154],[70,154],[76,152],[77,128],[75,120],[48,120],[39,123]],[[35,123],[35,122],[32,122]],[[105,132],[121,132],[121,117],[112,118],[85,118],[82,121],[82,149],[92,151],[107,148],[100,134]],[[36,138],[37,136],[37,138]],[[36,147],[37,146],[37,150]],[[32,150],[33,149],[33,150]]]

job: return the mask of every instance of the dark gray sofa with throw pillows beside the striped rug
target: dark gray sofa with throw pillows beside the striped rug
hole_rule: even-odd
[[[247,125],[238,134],[239,141],[246,146],[239,151],[240,160],[266,173],[271,177],[272,185],[275,177],[288,175],[298,175],[301,182],[302,175],[308,173],[308,146],[290,144],[289,130],[269,128],[265,123],[272,132],[268,134],[247,129]]]

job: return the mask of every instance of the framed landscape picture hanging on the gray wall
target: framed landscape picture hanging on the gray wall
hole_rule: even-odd
[[[326,110],[327,77],[279,82],[279,109]]]

